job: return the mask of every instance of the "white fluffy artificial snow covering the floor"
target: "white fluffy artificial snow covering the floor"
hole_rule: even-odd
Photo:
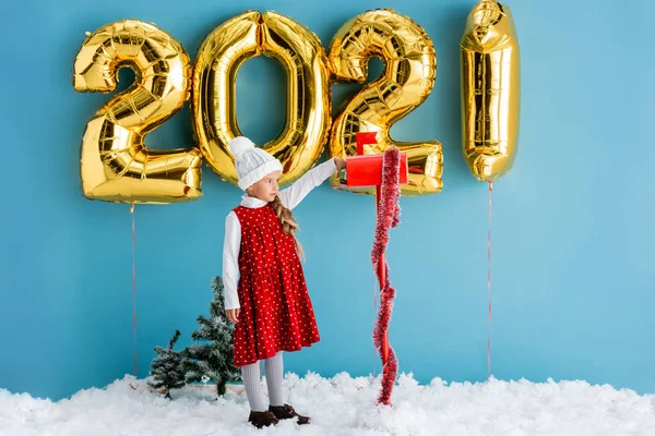
[[[263,383],[265,388],[265,383]],[[285,398],[312,424],[281,422],[257,431],[245,395],[213,401],[186,387],[169,401],[126,376],[52,402],[0,389],[0,435],[655,435],[655,396],[585,382],[526,380],[419,386],[402,375],[392,408],[376,407],[379,379],[340,374],[285,377]]]

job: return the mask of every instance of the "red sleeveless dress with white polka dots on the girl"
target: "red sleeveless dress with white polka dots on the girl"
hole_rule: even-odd
[[[294,238],[284,233],[271,205],[239,206],[234,211],[241,225],[241,313],[234,331],[235,366],[318,342],[319,330]]]

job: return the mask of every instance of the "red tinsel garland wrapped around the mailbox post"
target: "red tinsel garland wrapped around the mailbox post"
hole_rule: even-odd
[[[400,223],[401,215],[401,207],[398,204],[401,195],[401,153],[396,147],[391,147],[384,152],[383,159],[382,185],[380,186],[380,198],[378,198],[376,240],[373,241],[373,250],[371,252],[373,269],[379,280],[382,280],[379,274],[380,259],[389,243],[389,229],[396,227]],[[380,282],[380,310],[378,311],[378,319],[376,319],[373,329],[373,343],[382,359],[384,359],[382,354],[382,342],[389,328],[391,312],[393,311],[393,299],[395,298],[395,289],[391,287],[389,280],[389,265],[386,264],[386,261],[384,261],[383,268],[383,282]],[[398,363],[393,348],[389,347],[389,359],[382,368],[382,389],[378,397],[378,403],[391,404],[391,391],[395,384],[397,373]]]

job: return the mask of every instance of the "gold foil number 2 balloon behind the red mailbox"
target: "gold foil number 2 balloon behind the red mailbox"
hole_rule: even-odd
[[[437,57],[426,32],[407,16],[383,9],[367,11],[345,23],[330,46],[330,69],[336,81],[364,83],[372,57],[384,62],[384,73],[366,85],[337,116],[332,126],[330,150],[343,158],[357,154],[356,134],[377,132],[377,144],[365,154],[381,154],[396,145],[407,154],[409,182],[403,195],[441,191],[443,155],[437,141],[398,143],[389,130],[430,95],[437,74]],[[340,181],[332,178],[332,184]],[[345,189],[344,186],[340,186]],[[348,189],[374,192],[374,189]]]

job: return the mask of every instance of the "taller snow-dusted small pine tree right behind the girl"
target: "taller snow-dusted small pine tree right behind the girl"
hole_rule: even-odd
[[[193,343],[184,350],[187,383],[209,377],[216,385],[216,393],[225,395],[228,382],[239,382],[241,373],[234,366],[233,325],[225,315],[223,278],[212,280],[214,299],[210,303],[210,317],[200,315],[200,331],[193,331]]]

